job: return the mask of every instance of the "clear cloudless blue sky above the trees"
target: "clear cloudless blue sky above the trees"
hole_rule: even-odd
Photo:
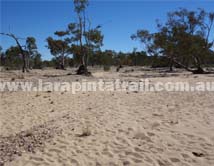
[[[54,36],[56,30],[64,30],[68,23],[76,20],[72,0],[0,0],[0,31],[12,32],[17,36],[36,38],[43,59],[52,55],[45,47],[45,39]],[[155,20],[164,22],[166,13],[179,7],[204,8],[214,11],[212,0],[92,0],[87,14],[92,25],[102,24],[105,49],[132,51],[142,50],[140,43],[130,36],[137,29],[156,31]],[[22,41],[24,43],[24,41]],[[15,42],[0,36],[0,45],[7,49]]]

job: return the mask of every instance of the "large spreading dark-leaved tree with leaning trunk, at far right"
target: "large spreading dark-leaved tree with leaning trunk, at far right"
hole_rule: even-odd
[[[164,25],[157,24],[157,33],[139,30],[131,37],[144,43],[147,52],[167,57],[170,70],[175,63],[193,73],[206,73],[202,65],[213,47],[214,41],[209,41],[213,22],[214,13],[179,9],[168,13]]]

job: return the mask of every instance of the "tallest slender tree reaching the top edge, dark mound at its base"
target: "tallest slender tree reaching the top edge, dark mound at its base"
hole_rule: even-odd
[[[74,0],[74,11],[78,21],[70,23],[64,32],[67,35],[65,40],[69,42],[74,58],[80,63],[77,74],[88,74],[89,57],[100,49],[103,41],[101,26],[92,28],[90,19],[86,18],[88,5],[88,0]]]

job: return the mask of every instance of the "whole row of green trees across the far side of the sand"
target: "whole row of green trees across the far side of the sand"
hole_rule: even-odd
[[[131,35],[144,45],[144,51],[115,52],[102,51],[104,35],[102,26],[92,27],[86,15],[88,0],[74,0],[77,21],[47,37],[47,48],[53,55],[49,61],[42,61],[37,51],[36,39],[27,37],[25,44],[14,34],[0,33],[15,40],[16,46],[2,51],[0,47],[0,65],[7,69],[19,69],[23,72],[32,68],[78,67],[77,74],[88,75],[88,66],[102,65],[106,70],[112,65],[181,67],[195,74],[208,73],[205,66],[214,65],[214,12],[203,9],[189,11],[180,8],[167,14],[165,23],[157,21],[157,32],[140,29]]]

